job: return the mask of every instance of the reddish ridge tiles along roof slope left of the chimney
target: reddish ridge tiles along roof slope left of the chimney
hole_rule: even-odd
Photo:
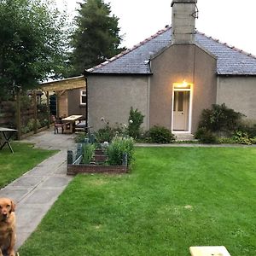
[[[138,47],[142,46],[143,44],[148,43],[148,41],[150,41],[150,40],[160,36],[160,34],[166,32],[167,30],[169,30],[171,28],[172,28],[172,26],[166,26],[164,29],[159,30],[158,32],[154,33],[154,35],[144,39],[140,43],[135,44],[131,48],[125,49],[124,51],[120,52],[118,55],[114,55],[112,58],[108,59],[107,61],[104,61],[104,62],[100,63],[99,65],[96,65],[95,67],[90,67],[89,69],[86,69],[85,71],[86,72],[93,72],[97,68],[103,67],[103,66],[107,65],[108,63],[113,62],[113,61],[119,59],[123,55],[126,55],[126,54],[130,53],[132,50],[137,49]]]

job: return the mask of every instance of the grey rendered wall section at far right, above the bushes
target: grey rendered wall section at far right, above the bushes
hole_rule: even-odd
[[[219,77],[217,103],[256,119],[256,77]]]

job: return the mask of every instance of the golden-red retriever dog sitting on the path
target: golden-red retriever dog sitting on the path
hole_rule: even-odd
[[[0,198],[0,256],[15,256],[15,203]]]

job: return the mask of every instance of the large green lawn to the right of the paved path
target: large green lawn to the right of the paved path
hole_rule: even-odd
[[[256,251],[256,148],[137,148],[131,174],[73,179],[20,255]]]

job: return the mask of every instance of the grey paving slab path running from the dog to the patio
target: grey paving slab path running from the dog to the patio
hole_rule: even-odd
[[[44,215],[73,179],[67,176],[67,149],[74,147],[74,137],[74,134],[54,134],[54,130],[49,129],[21,141],[33,143],[35,148],[60,151],[0,189],[1,197],[12,198],[16,203],[16,250],[36,230]]]

